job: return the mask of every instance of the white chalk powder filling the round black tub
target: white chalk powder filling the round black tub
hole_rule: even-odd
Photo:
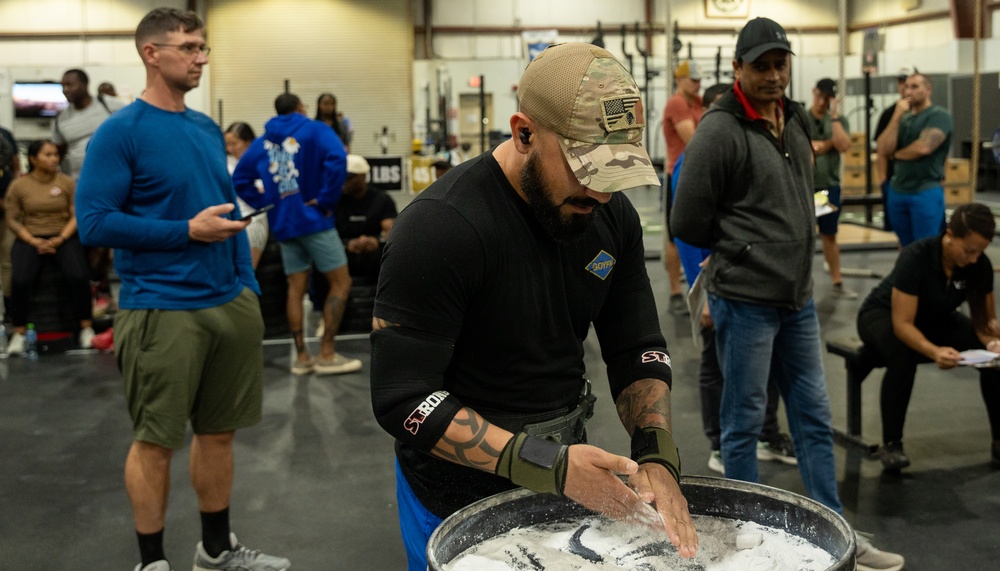
[[[471,547],[445,571],[822,571],[832,555],[783,530],[753,522],[692,516],[698,554],[682,559],[662,534],[643,525],[590,516],[513,529]],[[761,541],[737,549],[737,536]],[[747,543],[741,540],[741,546]]]

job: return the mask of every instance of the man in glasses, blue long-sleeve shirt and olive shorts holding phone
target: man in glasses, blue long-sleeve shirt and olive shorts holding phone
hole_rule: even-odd
[[[146,89],[91,139],[76,215],[85,244],[115,249],[122,279],[115,354],[135,434],[125,487],[136,571],[170,570],[170,461],[189,419],[202,522],[195,568],[287,569],[287,559],[247,549],[229,528],[233,437],[261,416],[264,322],[222,133],[184,104],[208,63],[203,28],[193,12],[171,8],[139,23]]]

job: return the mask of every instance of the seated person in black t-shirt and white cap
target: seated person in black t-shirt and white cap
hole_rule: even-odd
[[[396,220],[396,203],[384,192],[369,190],[371,167],[361,155],[347,155],[347,180],[337,203],[337,232],[347,251],[355,284],[378,281],[382,245]]]

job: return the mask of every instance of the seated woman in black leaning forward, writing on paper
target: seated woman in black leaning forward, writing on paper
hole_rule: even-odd
[[[892,272],[861,304],[858,333],[886,363],[879,449],[886,470],[910,465],[903,424],[917,364],[950,369],[959,364],[959,351],[1000,353],[993,266],[983,253],[995,229],[989,208],[963,204],[943,234],[904,248]],[[966,301],[971,319],[956,311]],[[993,465],[1000,467],[1000,369],[980,369],[979,385],[992,430]]]

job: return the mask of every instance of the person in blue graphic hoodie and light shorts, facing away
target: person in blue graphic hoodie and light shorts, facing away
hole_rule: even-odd
[[[254,208],[273,204],[267,213],[271,235],[281,245],[288,276],[288,326],[298,356],[292,373],[351,373],[361,361],[338,355],[334,337],[344,317],[351,275],[347,253],[337,233],[333,209],[347,178],[347,152],[333,129],[306,117],[302,100],[282,93],[274,100],[277,117],[264,125],[233,171],[240,198]],[[255,182],[264,182],[259,190]],[[313,264],[330,284],[323,303],[323,338],[313,360],[302,332],[302,300]]]

